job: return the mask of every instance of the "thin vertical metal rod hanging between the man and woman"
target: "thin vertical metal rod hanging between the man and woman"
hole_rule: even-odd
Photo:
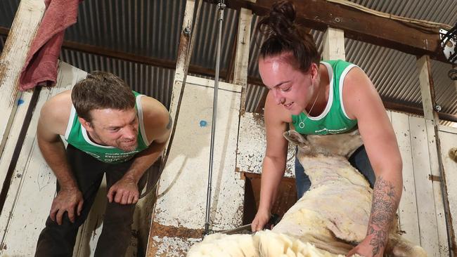
[[[217,34],[217,54],[216,54],[216,72],[214,76],[214,99],[212,105],[212,126],[211,126],[211,147],[210,147],[210,169],[208,171],[208,188],[206,195],[206,217],[205,217],[205,232],[203,235],[208,235],[210,232],[210,211],[211,211],[211,190],[212,190],[212,163],[214,155],[214,134],[216,133],[217,119],[217,91],[219,90],[219,62],[221,61],[221,41],[222,41],[222,22],[224,21],[224,0],[217,4],[219,8],[219,33]]]

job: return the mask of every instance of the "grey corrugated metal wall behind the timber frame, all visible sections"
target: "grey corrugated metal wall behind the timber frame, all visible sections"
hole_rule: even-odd
[[[455,0],[354,0],[376,11],[408,18],[418,18],[453,25],[457,20]],[[19,0],[2,0],[0,26],[11,27]],[[76,25],[67,29],[65,40],[101,46],[115,51],[151,58],[176,60],[184,17],[185,0],[98,0],[83,1],[79,6]],[[259,17],[252,19],[252,28]],[[222,34],[221,70],[228,70],[238,27],[238,11],[226,9]],[[191,65],[214,70],[217,41],[217,6],[202,3],[198,34]],[[376,28],[373,27],[373,30]],[[311,30],[321,50],[323,33]],[[248,74],[259,77],[257,70],[259,34],[251,35]],[[0,39],[1,47],[3,42]],[[359,65],[373,80],[382,98],[414,107],[421,107],[416,56],[346,39],[347,60]],[[126,80],[132,88],[151,95],[169,105],[173,70],[142,65],[124,60],[105,58],[79,51],[65,50],[62,60],[82,70],[107,70]],[[457,114],[456,88],[447,77],[451,65],[432,61],[437,103],[442,112]],[[246,108],[253,112],[262,98],[262,86],[249,85]]]

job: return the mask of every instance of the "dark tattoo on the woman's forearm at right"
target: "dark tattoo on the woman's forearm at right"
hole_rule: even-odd
[[[390,181],[378,178],[373,189],[371,216],[368,223],[367,235],[373,235],[370,244],[373,246],[373,256],[378,254],[387,243],[390,223],[397,210],[397,194]]]

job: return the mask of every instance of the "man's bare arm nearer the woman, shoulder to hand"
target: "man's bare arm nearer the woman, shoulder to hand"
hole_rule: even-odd
[[[172,118],[157,100],[143,96],[143,122],[146,135],[152,141],[146,150],[135,155],[129,171],[108,190],[108,200],[120,204],[136,204],[138,182],[145,171],[162,155],[172,128]]]

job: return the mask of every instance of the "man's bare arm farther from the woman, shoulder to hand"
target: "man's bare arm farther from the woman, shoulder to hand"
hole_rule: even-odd
[[[65,130],[68,113],[63,111],[71,107],[68,106],[66,92],[51,98],[41,108],[37,126],[37,141],[41,154],[47,164],[56,175],[60,185],[60,191],[53,200],[49,216],[51,220],[59,225],[65,211],[72,222],[75,221],[75,208],[79,216],[82,210],[82,194],[79,191],[76,180],[67,162],[65,146],[60,139],[59,133]],[[66,119],[66,120],[65,120]]]

